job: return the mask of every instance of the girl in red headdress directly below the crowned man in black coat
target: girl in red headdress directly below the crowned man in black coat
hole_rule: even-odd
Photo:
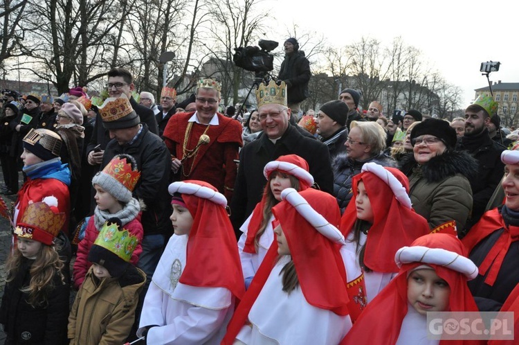
[[[262,201],[247,218],[240,230],[243,231],[238,241],[239,258],[242,261],[245,285],[248,288],[260,267],[266,251],[274,240],[272,230],[272,208],[281,201],[284,188],[304,191],[313,185],[313,177],[308,172],[307,161],[296,154],[281,156],[266,164],[263,174],[268,180]]]

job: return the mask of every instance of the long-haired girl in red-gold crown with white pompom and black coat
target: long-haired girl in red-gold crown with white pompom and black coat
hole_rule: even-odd
[[[68,267],[55,245],[66,217],[55,197],[44,201],[29,204],[15,229],[17,249],[6,263],[0,307],[6,344],[68,344]]]

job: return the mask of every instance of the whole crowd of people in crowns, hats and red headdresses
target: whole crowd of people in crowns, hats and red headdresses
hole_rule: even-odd
[[[448,122],[348,88],[302,114],[284,48],[243,114],[216,80],[156,104],[120,68],[100,103],[5,93],[6,344],[446,344],[428,312],[519,315],[519,150],[492,97]]]

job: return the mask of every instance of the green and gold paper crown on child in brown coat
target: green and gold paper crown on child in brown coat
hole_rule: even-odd
[[[120,230],[116,223],[105,222],[93,244],[107,249],[122,260],[129,262],[138,242],[138,239],[127,229]]]

